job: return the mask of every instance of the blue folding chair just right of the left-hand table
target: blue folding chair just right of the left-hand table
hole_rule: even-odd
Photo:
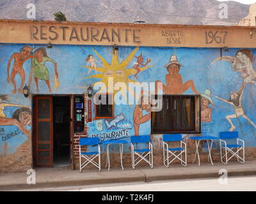
[[[136,143],[147,143],[148,149],[134,149],[134,144]],[[132,156],[132,168],[140,163],[141,161],[146,161],[151,168],[153,168],[153,146],[150,143],[150,136],[131,136],[131,156]],[[138,156],[136,159],[134,156]],[[148,156],[148,159],[147,159]],[[140,160],[138,160],[140,159]]]

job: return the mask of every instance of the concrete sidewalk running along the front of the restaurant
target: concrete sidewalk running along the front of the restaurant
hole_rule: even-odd
[[[33,189],[40,187],[65,187],[84,186],[92,184],[115,184],[118,182],[150,182],[157,180],[175,179],[199,179],[199,178],[219,178],[219,171],[225,169],[228,176],[256,175],[256,161],[246,161],[241,164],[230,162],[228,165],[222,163],[202,163],[188,164],[183,167],[180,164],[172,164],[169,168],[165,166],[138,166],[136,170],[132,168],[112,168],[109,171],[102,169],[93,170],[71,170],[69,167],[36,168],[36,185],[26,183],[28,175],[26,173],[1,173],[0,191],[15,189]]]

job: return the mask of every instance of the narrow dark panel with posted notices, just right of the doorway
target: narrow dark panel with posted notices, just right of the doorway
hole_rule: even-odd
[[[74,132],[84,131],[84,96],[74,97]]]

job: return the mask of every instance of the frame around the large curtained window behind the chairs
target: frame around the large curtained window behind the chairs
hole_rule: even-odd
[[[199,118],[199,120],[198,120],[198,125],[199,125],[199,127],[198,127],[198,131],[196,131],[196,100],[195,100],[195,131],[186,131],[186,129],[184,129],[184,131],[153,131],[154,129],[153,129],[153,120],[152,120],[152,118],[153,118],[153,113],[154,112],[151,112],[151,122],[150,122],[150,133],[152,134],[152,135],[157,135],[157,134],[161,134],[161,135],[164,135],[164,134],[201,134],[202,133],[202,128],[201,128],[201,124],[202,124],[202,122],[201,122],[201,95],[192,95],[192,94],[189,94],[189,95],[182,95],[182,94],[175,94],[175,95],[171,95],[171,94],[163,94],[163,96],[169,96],[169,97],[195,97],[195,99],[196,99],[196,97],[198,97],[198,118]],[[155,98],[157,98],[157,95],[153,95],[153,97],[155,97]]]

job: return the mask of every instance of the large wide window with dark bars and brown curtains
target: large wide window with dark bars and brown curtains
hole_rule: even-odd
[[[152,134],[200,133],[200,96],[163,95],[163,108],[151,119]]]

